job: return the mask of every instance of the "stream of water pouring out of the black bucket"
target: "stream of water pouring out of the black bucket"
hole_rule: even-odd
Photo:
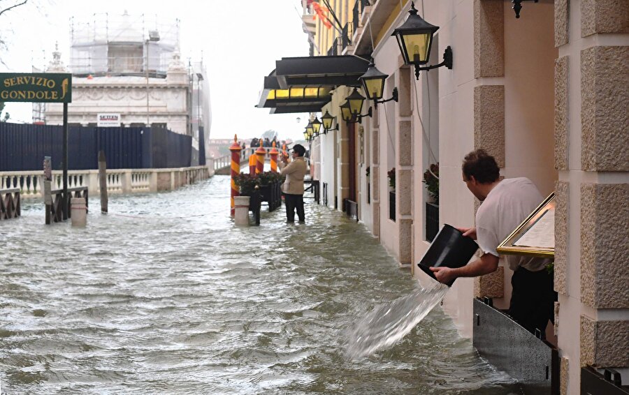
[[[348,359],[372,355],[396,344],[443,299],[447,285],[431,281],[409,295],[379,304],[356,323],[349,333],[345,350]]]

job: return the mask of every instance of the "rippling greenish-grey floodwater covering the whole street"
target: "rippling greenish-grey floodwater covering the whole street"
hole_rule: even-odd
[[[512,394],[441,308],[346,355],[374,306],[417,290],[362,225],[307,200],[235,228],[229,178],[99,201],[87,228],[0,222],[2,394]],[[377,307],[376,307],[377,308]]]

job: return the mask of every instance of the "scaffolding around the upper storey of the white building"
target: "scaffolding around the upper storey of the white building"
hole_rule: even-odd
[[[75,76],[166,77],[179,50],[179,20],[150,22],[143,15],[94,14],[90,22],[70,20],[70,69]]]

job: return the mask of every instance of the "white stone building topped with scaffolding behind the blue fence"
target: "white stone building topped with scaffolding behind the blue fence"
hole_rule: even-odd
[[[179,20],[159,23],[145,15],[95,14],[89,22],[70,22],[70,64],[53,52],[49,73],[73,75],[73,98],[68,123],[103,126],[99,117],[117,120],[115,126],[168,128],[209,140],[210,89],[203,60],[180,59]],[[62,124],[62,105],[45,108],[46,124]]]

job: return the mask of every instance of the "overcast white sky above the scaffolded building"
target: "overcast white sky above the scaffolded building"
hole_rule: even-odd
[[[70,17],[89,21],[94,13],[122,15],[124,10],[150,20],[157,15],[162,24],[178,18],[182,59],[196,60],[203,52],[210,80],[212,138],[234,133],[254,137],[269,129],[282,139],[303,138],[308,114],[269,114],[268,109],[254,107],[263,77],[277,59],[308,56],[299,0],[30,0],[0,17],[0,36],[8,45],[0,52],[6,64],[0,64],[0,72],[30,73],[31,64],[48,64],[56,41],[68,64]],[[7,103],[6,111],[11,121],[31,122],[30,103]]]

